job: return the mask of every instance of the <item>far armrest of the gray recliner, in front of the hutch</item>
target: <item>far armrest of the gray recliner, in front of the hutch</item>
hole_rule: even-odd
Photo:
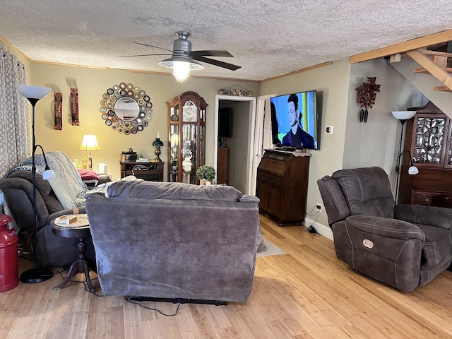
[[[429,225],[452,230],[452,209],[422,205],[397,205],[394,218],[413,224]]]

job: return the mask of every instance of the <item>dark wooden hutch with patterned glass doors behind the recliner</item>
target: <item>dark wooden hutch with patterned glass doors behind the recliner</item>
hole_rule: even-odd
[[[410,156],[404,153],[398,203],[452,208],[451,120],[432,102],[408,110],[417,113],[406,123],[404,150],[419,173],[408,174]]]

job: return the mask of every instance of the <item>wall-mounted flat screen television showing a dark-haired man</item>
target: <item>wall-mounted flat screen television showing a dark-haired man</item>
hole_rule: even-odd
[[[316,90],[271,97],[270,107],[273,145],[283,149],[320,149]]]

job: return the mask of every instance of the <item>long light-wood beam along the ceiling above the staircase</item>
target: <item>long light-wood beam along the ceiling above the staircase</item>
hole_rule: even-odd
[[[355,54],[350,57],[350,64],[367,61],[371,59],[378,59],[387,57],[388,55],[403,53],[412,49],[419,49],[422,47],[432,46],[432,44],[439,44],[452,40],[452,30],[445,30],[426,37],[419,37],[417,39],[400,42],[399,44],[391,44],[391,46],[374,49],[370,52]]]

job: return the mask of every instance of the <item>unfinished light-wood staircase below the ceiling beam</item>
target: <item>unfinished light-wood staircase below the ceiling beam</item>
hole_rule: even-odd
[[[413,69],[413,72],[420,74],[432,74],[444,86],[434,86],[434,90],[452,92],[452,67],[448,67],[448,58],[452,60],[452,53],[432,51],[428,49],[413,49],[405,52],[417,64],[422,66],[419,69]]]

